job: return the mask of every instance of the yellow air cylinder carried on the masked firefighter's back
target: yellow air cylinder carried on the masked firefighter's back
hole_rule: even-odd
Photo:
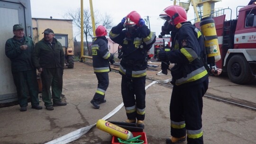
[[[202,18],[200,22],[201,32],[205,38],[204,45],[206,49],[207,58],[212,59],[214,62],[218,62],[221,58],[219,52],[218,36],[214,20],[210,17]]]

